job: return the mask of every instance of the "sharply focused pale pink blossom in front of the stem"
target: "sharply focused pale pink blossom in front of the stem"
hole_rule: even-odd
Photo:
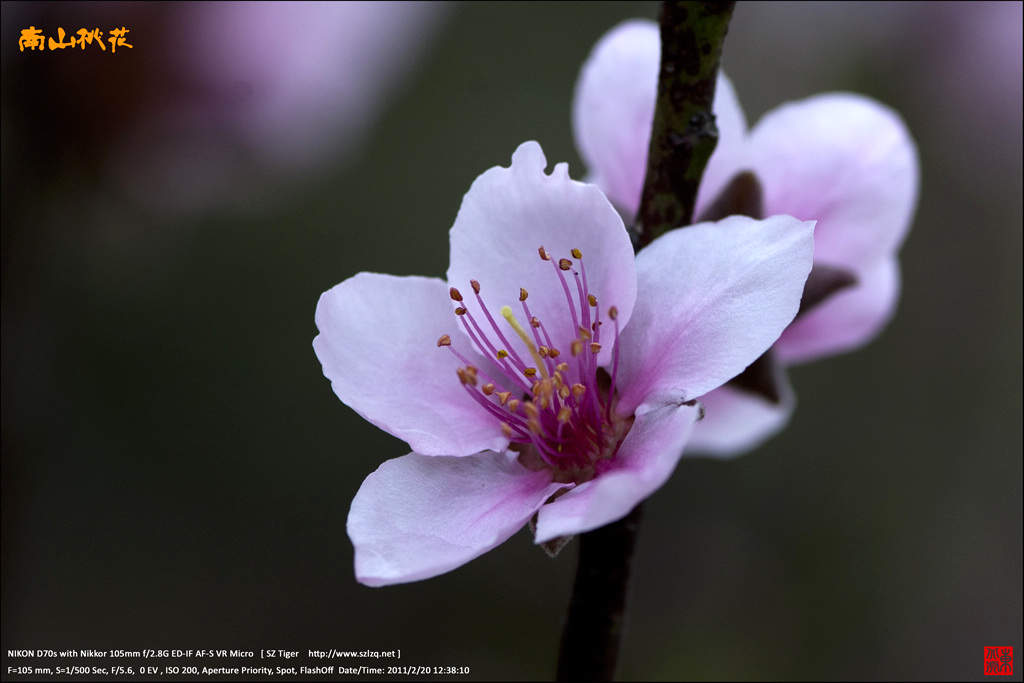
[[[601,190],[546,166],[526,142],[476,179],[447,282],[364,272],[321,297],[335,393],[414,451],[352,502],[364,584],[449,571],[535,515],[537,543],[624,517],[675,468],[691,399],[797,312],[813,223],[736,216],[634,258]]]

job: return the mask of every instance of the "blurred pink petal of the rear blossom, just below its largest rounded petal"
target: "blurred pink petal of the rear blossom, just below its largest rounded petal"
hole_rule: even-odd
[[[794,321],[775,343],[779,360],[793,365],[863,346],[896,310],[900,272],[895,257],[857,273],[842,290]]]

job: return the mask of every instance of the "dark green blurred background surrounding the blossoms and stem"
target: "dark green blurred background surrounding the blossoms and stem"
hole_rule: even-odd
[[[647,502],[622,679],[981,679],[984,646],[1021,652],[1020,7],[737,6],[749,120],[873,96],[920,144],[921,201],[885,333],[794,369],[763,449],[684,459]],[[187,90],[182,10],[3,11],[4,671],[12,648],[337,647],[550,679],[573,545],[551,560],[521,531],[427,582],[355,583],[348,506],[408,449],[335,397],[313,310],[360,270],[443,275],[463,194],[523,140],[582,177],[580,67],[657,5],[441,8],[354,151],[285,171],[243,147],[223,203],[174,209],[125,189],[162,157],[111,160]],[[115,22],[135,47],[105,59],[17,49],[30,25]]]

